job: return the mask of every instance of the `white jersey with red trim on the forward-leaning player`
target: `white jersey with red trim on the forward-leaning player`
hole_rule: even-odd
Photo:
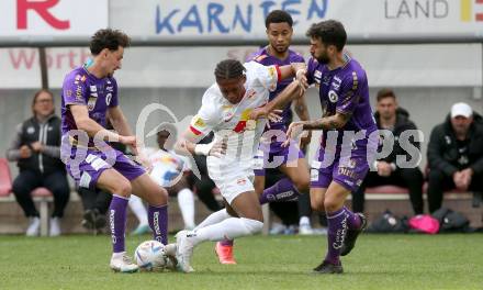
[[[280,70],[277,66],[263,66],[255,62],[244,64],[246,71],[245,96],[237,104],[226,100],[214,83],[203,96],[198,114],[193,116],[190,130],[195,135],[211,131],[215,141],[227,141],[227,153],[222,158],[207,157],[209,172],[228,177],[232,171],[252,170],[254,154],[260,142],[267,120],[249,120],[255,108],[266,104],[270,91],[277,88]]]

